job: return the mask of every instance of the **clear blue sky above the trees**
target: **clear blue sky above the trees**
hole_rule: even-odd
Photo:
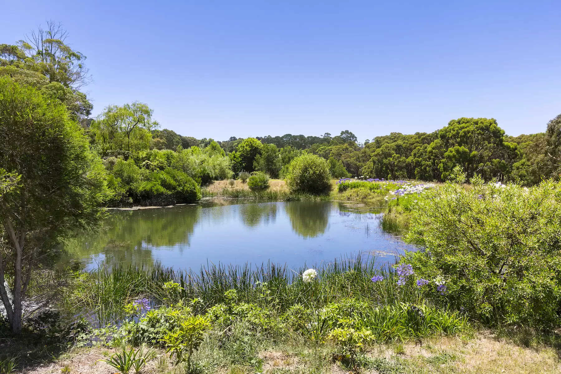
[[[0,1],[0,43],[61,21],[94,114],[134,100],[213,137],[359,140],[493,117],[509,135],[561,113],[560,1]]]

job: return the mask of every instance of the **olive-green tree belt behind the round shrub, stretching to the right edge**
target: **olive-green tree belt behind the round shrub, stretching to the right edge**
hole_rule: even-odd
[[[177,134],[176,137],[185,138]],[[505,135],[493,118],[458,118],[432,133],[393,132],[364,144],[350,131],[334,137],[329,133],[320,137],[286,134],[255,140],[261,145],[254,145],[252,150],[245,149],[247,142],[240,148],[246,141],[242,138],[218,141],[233,161],[234,174],[262,170],[273,178],[282,177],[282,168],[293,155],[302,152],[329,160],[334,178],[362,176],[442,182],[459,165],[468,177],[480,174],[486,180],[496,178],[532,185],[542,179],[559,178],[561,172],[561,115],[546,124],[546,132],[517,137]],[[209,140],[197,142],[208,144]],[[248,161],[248,155],[251,160],[257,158],[255,165]]]

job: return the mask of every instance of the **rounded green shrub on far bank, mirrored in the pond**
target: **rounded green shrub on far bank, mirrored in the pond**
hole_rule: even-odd
[[[328,193],[330,179],[327,161],[309,153],[293,159],[287,173],[288,188],[292,192]]]

